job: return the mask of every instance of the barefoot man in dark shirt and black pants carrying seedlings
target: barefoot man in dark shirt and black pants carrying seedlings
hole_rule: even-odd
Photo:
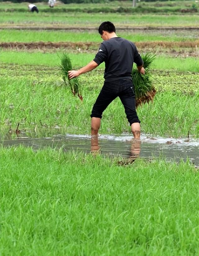
[[[135,107],[135,92],[132,84],[131,71],[133,62],[141,74],[145,74],[143,61],[136,46],[115,33],[112,22],[103,22],[99,26],[99,34],[104,40],[95,59],[79,70],[68,71],[70,79],[95,69],[105,62],[104,86],[93,106],[91,113],[91,135],[97,135],[103,111],[117,97],[120,98],[134,138],[140,138],[140,120]]]

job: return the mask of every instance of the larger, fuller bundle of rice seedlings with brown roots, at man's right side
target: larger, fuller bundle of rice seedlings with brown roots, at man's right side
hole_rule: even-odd
[[[152,81],[150,79],[150,67],[151,63],[155,59],[155,55],[151,53],[146,53],[141,55],[144,62],[143,67],[145,69],[145,75],[138,72],[137,68],[132,70],[133,84],[135,85],[135,95],[136,95],[136,107],[141,104],[149,103],[153,101],[156,94],[156,90]]]

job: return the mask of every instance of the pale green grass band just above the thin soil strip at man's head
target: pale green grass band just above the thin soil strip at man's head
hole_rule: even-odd
[[[195,26],[198,27],[199,16],[186,15],[158,15],[158,14],[124,14],[124,13],[1,13],[1,25],[23,25],[32,27],[99,27],[106,20],[114,22],[116,26]]]

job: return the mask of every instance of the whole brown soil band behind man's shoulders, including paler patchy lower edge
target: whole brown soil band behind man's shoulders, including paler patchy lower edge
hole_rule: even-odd
[[[135,45],[141,51],[157,51],[157,54],[167,54],[175,57],[198,57],[199,40],[184,42],[136,42]],[[54,52],[58,49],[70,52],[96,53],[98,42],[2,42],[0,48],[17,51]]]

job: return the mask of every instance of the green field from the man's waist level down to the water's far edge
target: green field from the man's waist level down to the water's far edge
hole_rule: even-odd
[[[103,70],[80,76],[83,103],[64,86],[57,68],[8,65],[0,76],[0,127],[48,129],[90,134],[90,113],[103,85]],[[157,71],[156,71],[157,72]],[[10,77],[8,76],[10,74]],[[153,135],[199,138],[198,74],[154,73],[158,93],[153,104],[139,107],[141,132]],[[194,106],[194,108],[193,108]],[[100,133],[130,133],[119,99],[104,111]]]

